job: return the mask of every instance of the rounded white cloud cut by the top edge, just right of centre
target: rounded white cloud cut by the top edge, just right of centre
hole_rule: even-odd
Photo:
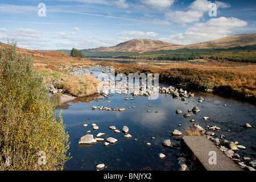
[[[155,10],[164,10],[174,4],[174,0],[141,0],[143,5]]]

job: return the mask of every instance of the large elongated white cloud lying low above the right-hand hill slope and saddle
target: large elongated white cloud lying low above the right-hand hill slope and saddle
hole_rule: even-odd
[[[176,44],[189,44],[205,42],[223,38],[232,34],[235,28],[245,27],[247,22],[237,18],[212,18],[205,23],[195,23],[187,28],[183,34],[171,35],[170,38],[162,39]]]

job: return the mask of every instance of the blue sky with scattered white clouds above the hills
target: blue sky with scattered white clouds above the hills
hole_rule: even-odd
[[[137,38],[184,45],[256,33],[255,17],[255,0],[0,0],[0,42],[36,50]]]

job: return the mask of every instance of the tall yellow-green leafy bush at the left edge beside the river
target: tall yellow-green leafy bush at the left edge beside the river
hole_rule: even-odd
[[[34,60],[16,54],[16,43],[0,54],[0,169],[59,170],[70,158],[69,135],[50,102]]]

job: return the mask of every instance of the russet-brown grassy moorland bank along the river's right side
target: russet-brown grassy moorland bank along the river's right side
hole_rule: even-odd
[[[159,73],[159,81],[184,84],[188,88],[214,89],[216,93],[256,105],[256,65],[114,65],[115,73]]]

